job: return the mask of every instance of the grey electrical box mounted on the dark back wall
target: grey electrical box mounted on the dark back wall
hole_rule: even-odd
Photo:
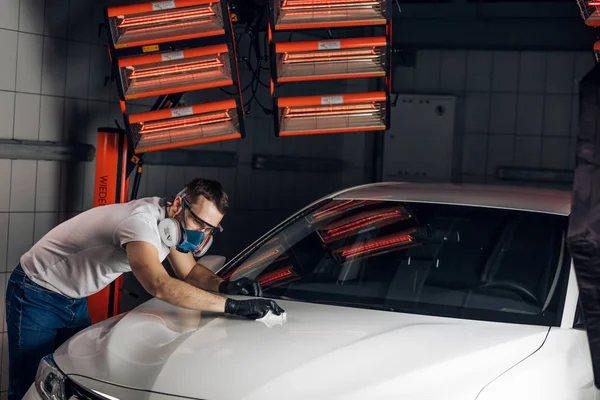
[[[450,182],[455,111],[452,96],[400,94],[384,138],[383,180]]]

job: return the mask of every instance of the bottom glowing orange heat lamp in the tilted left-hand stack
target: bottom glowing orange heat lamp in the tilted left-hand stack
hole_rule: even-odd
[[[136,154],[245,137],[239,98],[125,116]]]

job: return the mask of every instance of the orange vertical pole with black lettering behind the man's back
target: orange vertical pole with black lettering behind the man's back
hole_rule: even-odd
[[[96,149],[94,207],[126,202],[125,132],[113,128],[99,129]],[[93,324],[119,313],[122,286],[123,280],[118,278],[110,286],[88,297],[88,310]]]

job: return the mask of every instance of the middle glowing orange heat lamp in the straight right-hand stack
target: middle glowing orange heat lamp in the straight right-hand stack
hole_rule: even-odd
[[[387,76],[389,42],[385,36],[272,44],[273,81]]]

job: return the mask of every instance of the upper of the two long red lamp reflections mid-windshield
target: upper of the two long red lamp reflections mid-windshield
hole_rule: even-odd
[[[322,227],[321,230],[325,231],[323,241],[331,243],[410,218],[410,214],[404,207],[390,207],[363,212]]]

